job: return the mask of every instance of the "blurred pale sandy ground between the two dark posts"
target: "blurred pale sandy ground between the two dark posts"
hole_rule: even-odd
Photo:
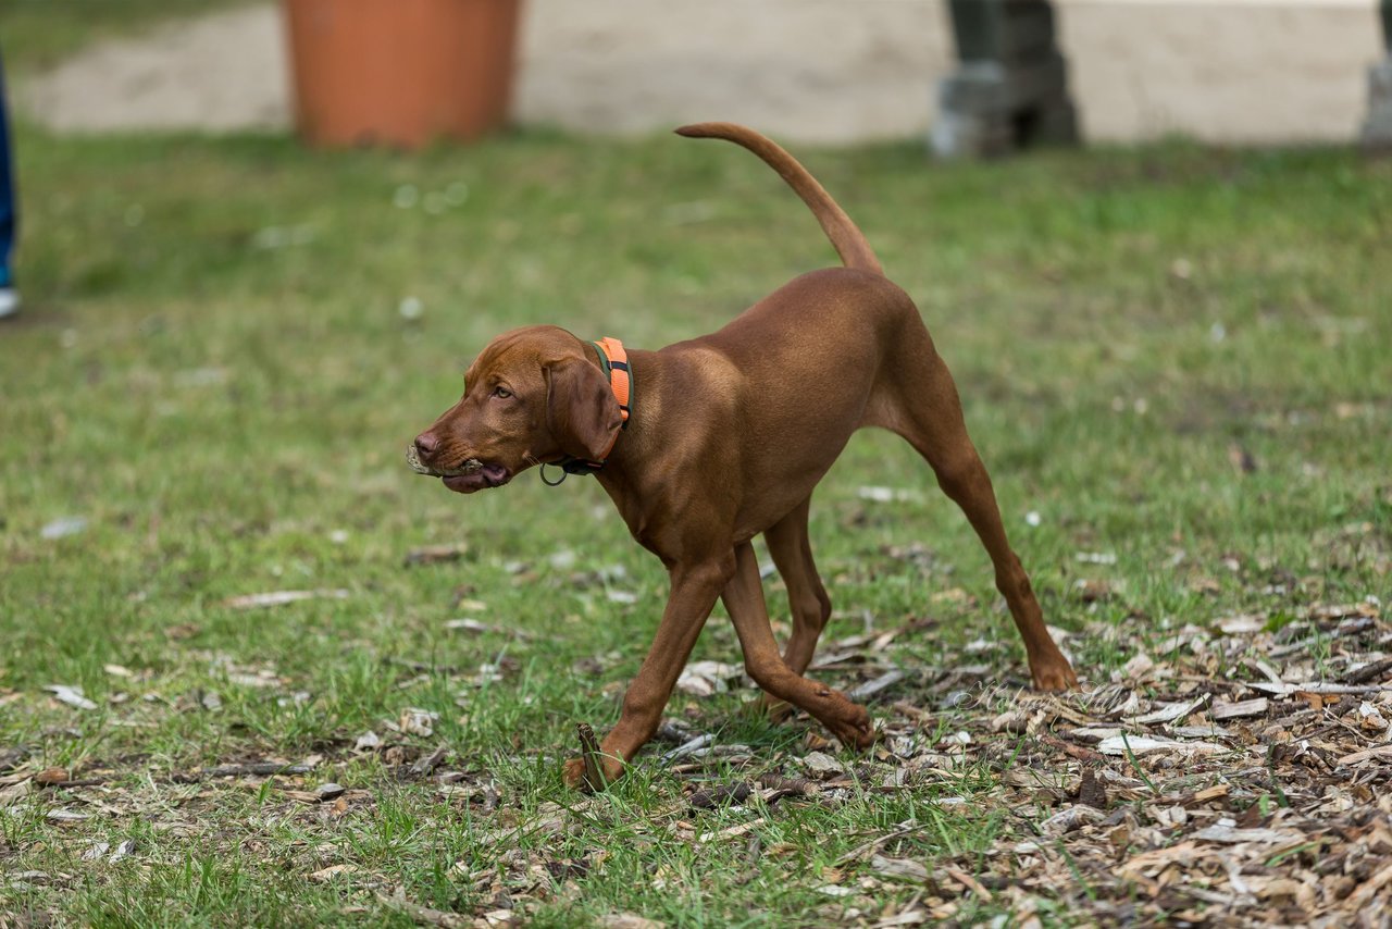
[[[1377,0],[1057,0],[1084,132],[1354,138]]]

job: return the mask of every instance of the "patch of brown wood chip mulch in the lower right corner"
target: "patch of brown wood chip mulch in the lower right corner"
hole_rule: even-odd
[[[887,708],[885,742],[859,777],[947,786],[986,766],[998,787],[967,802],[1008,826],[984,855],[938,859],[916,910],[869,925],[969,919],[973,898],[1009,901],[1020,926],[1062,914],[1389,925],[1392,627],[1379,606],[1225,617],[1155,652],[1080,694],[977,687],[951,710]],[[955,731],[924,749],[944,726]],[[899,848],[912,854],[891,838],[859,858],[892,875]]]

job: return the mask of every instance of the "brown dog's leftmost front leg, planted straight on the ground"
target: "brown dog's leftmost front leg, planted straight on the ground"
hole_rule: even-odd
[[[633,758],[639,748],[657,731],[663,720],[677,678],[686,666],[686,659],[696,645],[715,598],[735,574],[734,553],[722,559],[702,561],[695,565],[678,564],[671,568],[672,592],[663,611],[663,623],[657,627],[653,646],[643,659],[643,667],[624,695],[624,709],[615,726],[600,744],[604,780],[612,781],[624,773],[624,762]],[[585,759],[572,758],[565,762],[565,783],[582,790],[601,790],[603,784],[590,784],[585,777]]]

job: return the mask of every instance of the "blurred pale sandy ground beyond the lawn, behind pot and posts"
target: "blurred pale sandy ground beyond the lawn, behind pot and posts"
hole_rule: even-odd
[[[592,132],[748,123],[786,141],[924,135],[942,0],[525,0],[515,113]],[[1352,141],[1377,0],[1055,0],[1090,139]],[[64,131],[290,118],[274,4],[107,43],[24,81]]]

